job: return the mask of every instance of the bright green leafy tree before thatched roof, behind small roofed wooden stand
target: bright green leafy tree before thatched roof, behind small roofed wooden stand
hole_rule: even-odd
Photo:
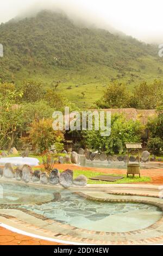
[[[92,130],[83,131],[83,137],[87,148],[114,155],[126,151],[126,142],[140,142],[142,131],[143,126],[139,121],[126,121],[123,115],[115,114],[111,117],[110,136],[102,137],[100,130]]]

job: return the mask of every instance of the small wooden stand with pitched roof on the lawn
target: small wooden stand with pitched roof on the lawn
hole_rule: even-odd
[[[140,149],[142,149],[142,143],[125,143],[128,151],[127,154],[127,177],[129,174],[133,174],[133,178],[135,174],[139,174],[140,178]],[[129,149],[137,149],[138,150],[138,163],[129,163]]]

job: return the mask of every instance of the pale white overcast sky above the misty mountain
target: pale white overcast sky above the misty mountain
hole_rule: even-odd
[[[1,0],[0,23],[54,4],[99,27],[110,25],[142,41],[163,42],[162,0]]]

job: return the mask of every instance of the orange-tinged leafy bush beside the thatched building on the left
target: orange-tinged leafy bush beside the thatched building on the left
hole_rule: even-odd
[[[27,139],[32,143],[33,148],[38,148],[41,153],[48,150],[56,142],[59,143],[64,139],[61,131],[53,130],[52,123],[52,119],[41,119],[33,121],[30,127]]]

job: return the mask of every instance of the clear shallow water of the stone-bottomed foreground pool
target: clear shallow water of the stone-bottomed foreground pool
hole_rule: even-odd
[[[148,227],[162,216],[162,211],[152,205],[93,202],[61,188],[0,184],[0,191],[1,205],[17,204],[17,209],[94,231],[133,231]]]

